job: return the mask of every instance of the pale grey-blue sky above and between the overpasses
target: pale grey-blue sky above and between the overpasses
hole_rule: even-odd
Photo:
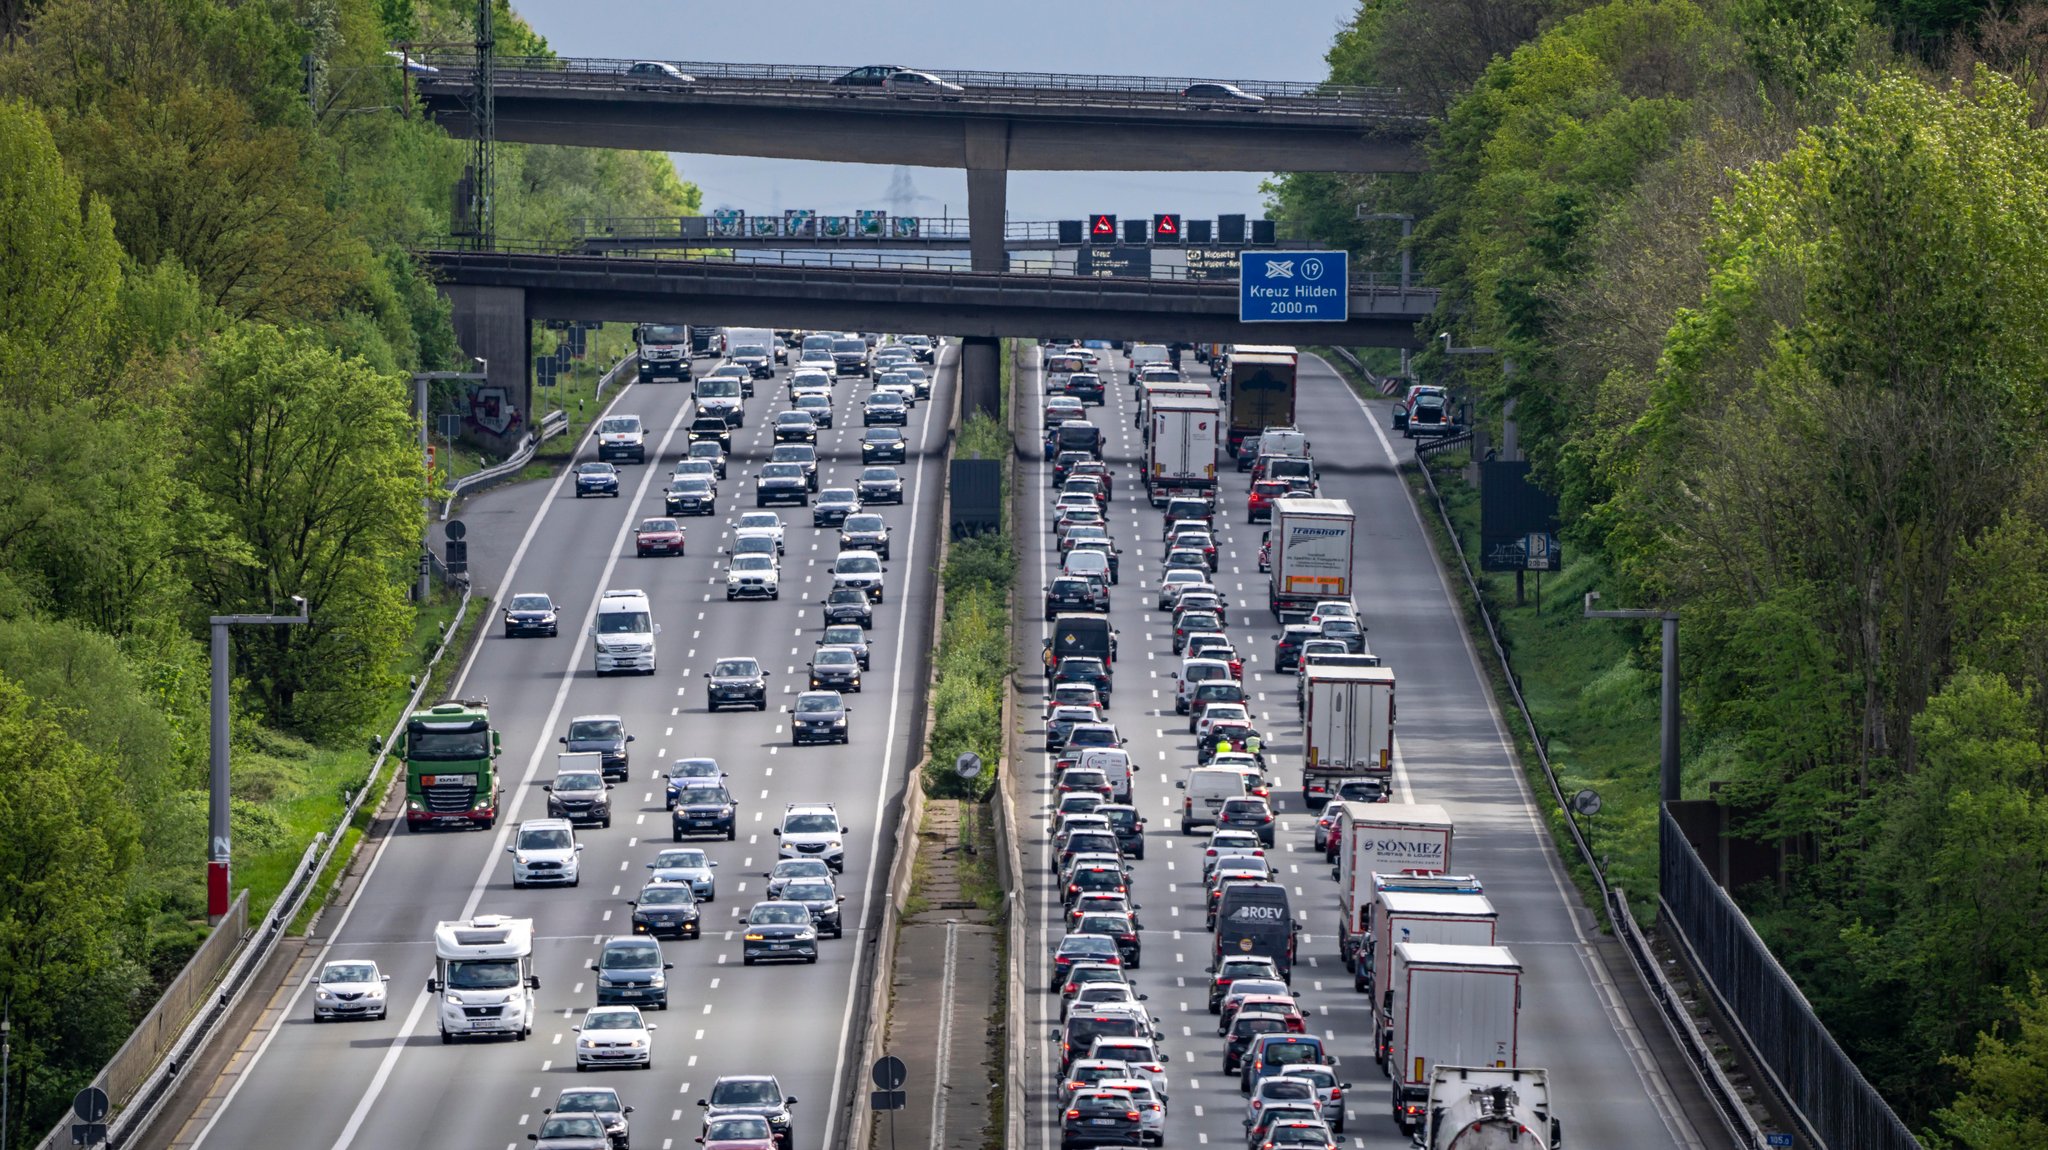
[[[561,55],[1305,80],[1358,0],[512,0]],[[676,156],[705,209],[967,215],[948,168]],[[1255,172],[1012,172],[1010,219],[1264,215]]]

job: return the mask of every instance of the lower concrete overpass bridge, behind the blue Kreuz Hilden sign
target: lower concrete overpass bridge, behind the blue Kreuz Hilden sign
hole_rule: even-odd
[[[934,331],[995,379],[1004,336],[1417,348],[1436,293],[1352,284],[1346,323],[1239,323],[1235,280],[1090,278],[944,266],[657,260],[559,252],[424,252],[463,348],[532,411],[535,319]],[[967,381],[963,381],[967,385]]]

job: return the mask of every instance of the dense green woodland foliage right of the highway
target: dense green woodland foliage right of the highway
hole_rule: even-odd
[[[1419,370],[1513,399],[1597,585],[1683,612],[1688,796],[1786,847],[1759,931],[1929,1144],[2036,1144],[2048,14],[1473,8],[1364,4],[1329,53],[1432,100],[1430,172],[1274,209],[1366,258],[1356,205],[1419,217],[1432,331],[1511,362]]]

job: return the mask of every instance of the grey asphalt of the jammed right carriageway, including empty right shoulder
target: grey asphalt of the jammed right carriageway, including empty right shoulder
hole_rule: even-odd
[[[1161,514],[1147,505],[1139,481],[1141,442],[1133,428],[1130,389],[1122,360],[1104,352],[1100,368],[1112,381],[1108,405],[1090,407],[1092,422],[1108,434],[1108,460],[1116,471],[1110,503],[1112,532],[1122,548],[1120,583],[1112,591],[1112,622],[1118,630],[1116,692],[1110,718],[1133,753],[1135,798],[1149,819],[1145,857],[1135,864],[1133,900],[1141,911],[1143,968],[1133,982],[1149,994],[1147,1007],[1165,1033],[1163,1056],[1171,1062],[1167,1144],[1243,1144],[1243,1097],[1237,1076],[1221,1072],[1223,1040],[1206,1011],[1210,935],[1202,927],[1200,843],[1206,831],[1182,837],[1180,792],[1174,780],[1194,761],[1194,739],[1186,716],[1174,714],[1174,675],[1180,659],[1171,653],[1169,622],[1155,610]],[[1206,372],[1192,354],[1190,372]],[[1044,381],[1020,372],[1022,411],[1036,424]],[[1571,888],[1542,831],[1530,790],[1513,765],[1507,741],[1481,681],[1477,655],[1452,608],[1421,520],[1395,471],[1405,442],[1389,436],[1386,403],[1364,403],[1321,360],[1300,360],[1300,401],[1296,424],[1309,432],[1325,497],[1348,499],[1358,514],[1356,602],[1370,632],[1368,647],[1384,659],[1401,683],[1399,755],[1395,800],[1444,804],[1456,821],[1454,870],[1479,876],[1499,909],[1501,945],[1524,966],[1520,1062],[1544,1066],[1552,1074],[1556,1115],[1565,1142],[1575,1150],[1647,1150],[1698,1146],[1673,1103],[1673,1087],[1653,1066],[1626,1013],[1618,1009],[1604,968],[1587,949],[1593,923]],[[1022,469],[1020,528],[1024,534],[1024,581],[1020,610],[1036,612],[1047,573],[1057,569],[1057,550],[1047,510],[1057,491],[1049,465]],[[1278,872],[1292,888],[1303,919],[1300,960],[1294,988],[1309,1015],[1311,1033],[1335,1042],[1341,1058],[1339,1080],[1352,1082],[1343,1144],[1358,1148],[1405,1148],[1391,1117],[1391,1089],[1374,1066],[1366,997],[1352,990],[1352,976],[1335,952],[1335,882],[1321,853],[1313,853],[1313,816],[1298,798],[1300,722],[1294,708],[1294,675],[1272,673],[1272,636],[1278,630],[1266,610],[1266,575],[1257,571],[1264,524],[1245,520],[1245,479],[1233,460],[1219,460],[1223,497],[1217,512],[1221,565],[1214,581],[1225,593],[1231,638],[1245,657],[1245,688],[1257,726],[1268,735],[1268,761],[1278,763],[1274,790],[1280,810]],[[1030,616],[1036,618],[1036,616]],[[1036,659],[1042,630],[1018,636],[1020,659]],[[1030,663],[1026,663],[1030,667]],[[1028,735],[1024,753],[1030,769],[1020,786],[1020,823],[1030,839],[1022,843],[1030,878],[1028,904],[1040,937],[1024,954],[1026,1017],[1036,1025],[1026,1035],[1034,1076],[1034,1142],[1059,1144],[1053,1074],[1057,1058],[1047,1031],[1059,1025],[1059,999],[1044,990],[1051,949],[1061,937],[1059,898],[1049,876],[1047,810],[1051,800],[1051,757],[1034,716],[1044,698],[1038,675],[1024,673],[1018,706]],[[1679,1070],[1683,1072],[1683,1070]],[[1690,1087],[1690,1080],[1686,1082]]]

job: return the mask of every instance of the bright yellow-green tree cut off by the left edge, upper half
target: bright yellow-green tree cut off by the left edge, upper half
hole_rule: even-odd
[[[121,246],[98,196],[57,156],[43,115],[0,100],[0,403],[20,411],[90,381],[121,284]]]

